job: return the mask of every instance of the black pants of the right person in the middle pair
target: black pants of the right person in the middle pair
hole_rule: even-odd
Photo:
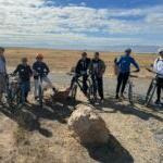
[[[95,96],[97,96],[97,91],[98,91],[101,100],[103,100],[103,98],[104,98],[104,96],[103,96],[103,77],[98,77],[97,75],[92,75],[91,78],[92,78]]]

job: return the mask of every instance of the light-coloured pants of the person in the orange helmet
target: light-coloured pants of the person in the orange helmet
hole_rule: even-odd
[[[47,83],[48,87],[50,87],[52,89],[54,88],[53,85],[52,85],[52,83],[51,83],[51,80],[47,76],[42,77],[41,80],[45,82],[45,83]],[[35,93],[35,97],[38,97],[38,91],[39,91],[38,79],[35,79],[34,83],[35,83],[35,92],[34,93]]]

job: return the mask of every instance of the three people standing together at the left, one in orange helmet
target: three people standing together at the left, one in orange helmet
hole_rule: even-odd
[[[28,92],[30,91],[30,78],[34,76],[35,84],[35,100],[38,99],[38,79],[41,78],[42,82],[46,82],[49,87],[55,92],[57,89],[52,85],[51,80],[48,78],[50,73],[48,65],[43,62],[43,55],[38,53],[36,57],[36,62],[33,64],[33,67],[28,64],[27,58],[22,58],[22,62],[17,65],[12,75],[18,75],[18,83],[22,90],[22,97],[25,102],[28,98]],[[7,62],[4,57],[4,48],[0,48],[0,102],[2,101],[2,95],[5,91],[7,87]]]

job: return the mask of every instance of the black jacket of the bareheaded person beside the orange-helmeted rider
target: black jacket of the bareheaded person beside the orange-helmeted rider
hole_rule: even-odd
[[[13,74],[18,74],[21,82],[29,82],[33,71],[29,65],[18,64]]]

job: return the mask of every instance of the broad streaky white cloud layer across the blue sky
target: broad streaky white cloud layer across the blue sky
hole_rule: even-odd
[[[145,35],[163,35],[162,17],[163,7],[93,9],[85,2],[58,7],[51,0],[0,0],[0,42],[143,43]]]

